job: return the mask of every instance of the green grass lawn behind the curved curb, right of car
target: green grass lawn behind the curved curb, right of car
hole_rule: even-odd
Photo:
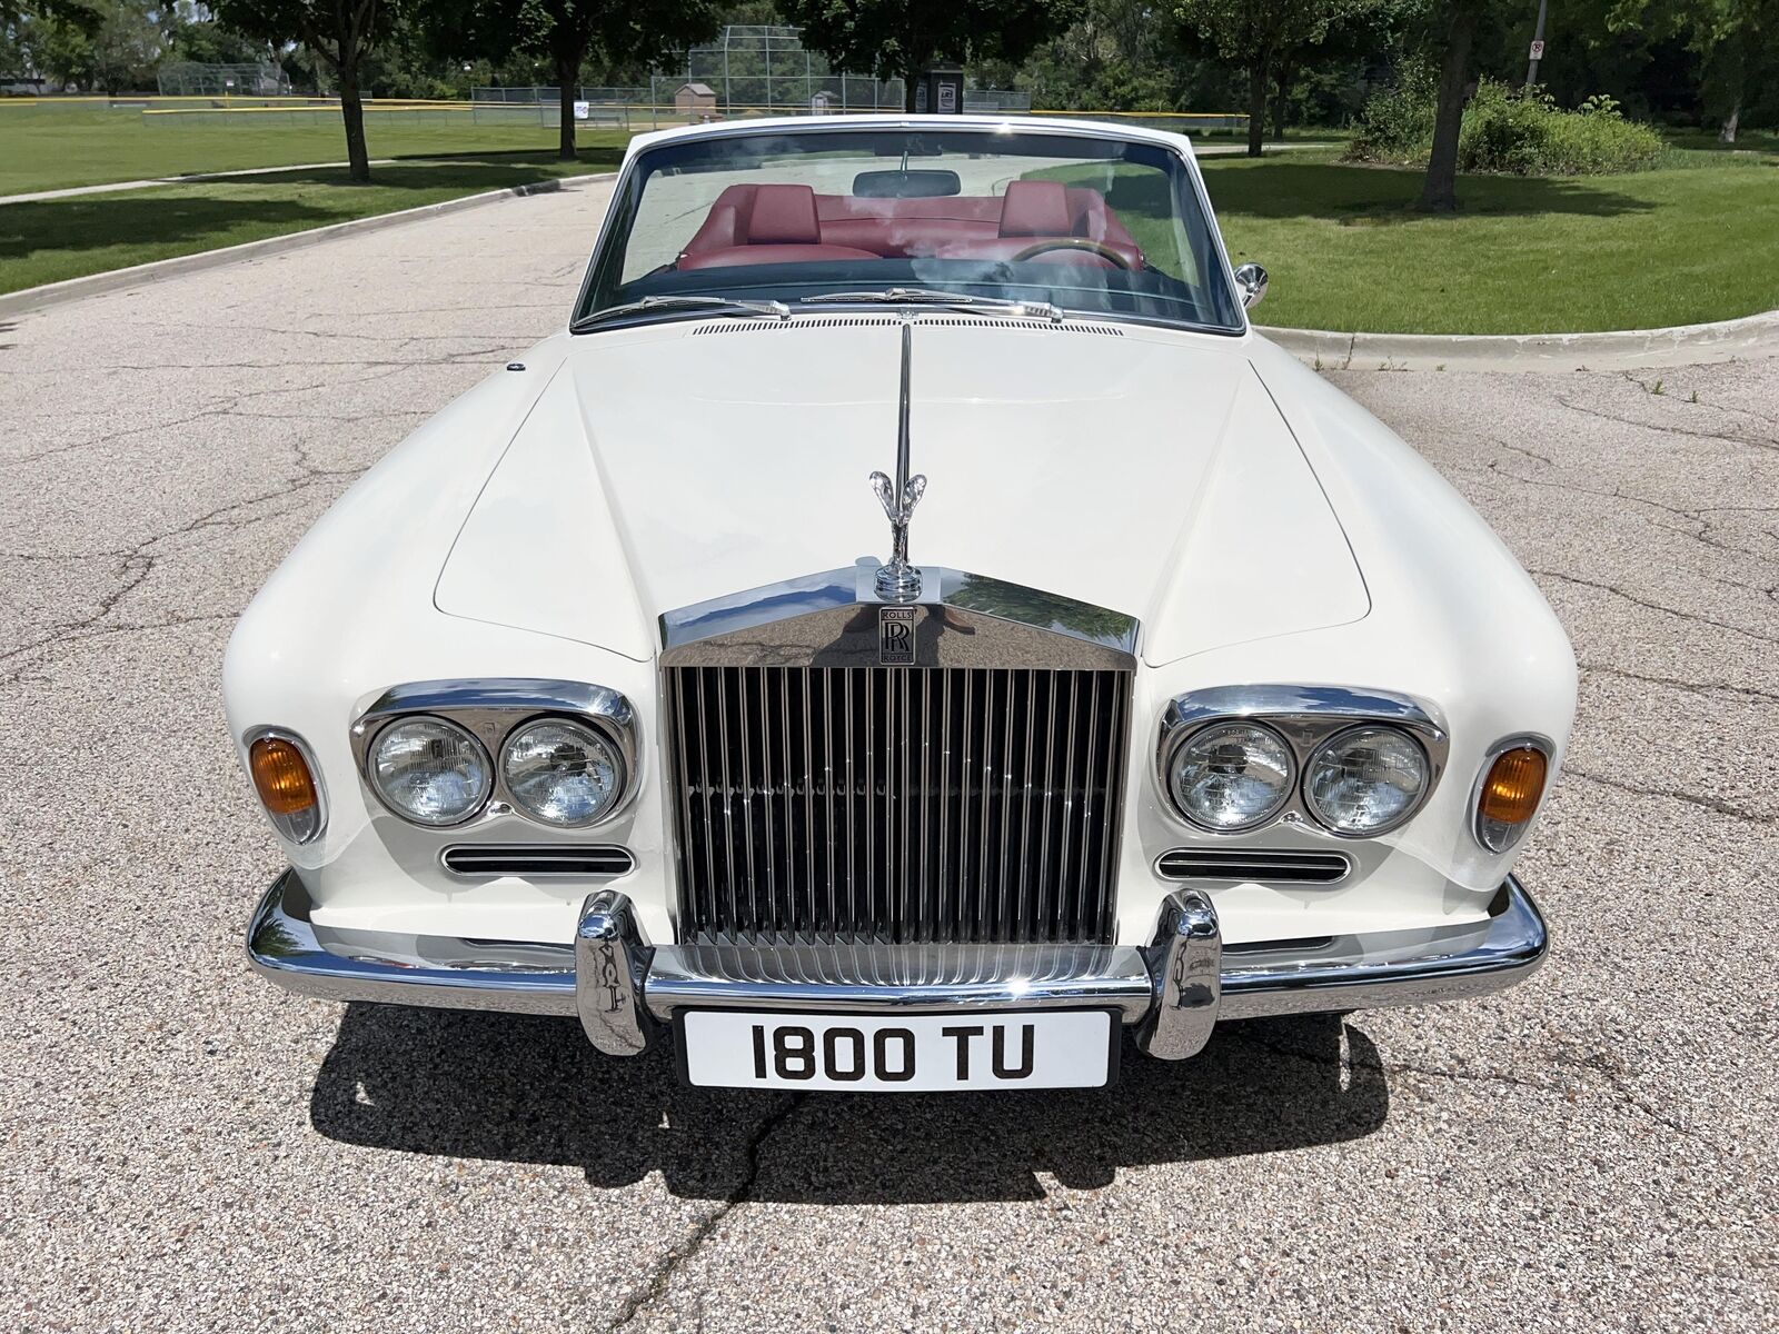
[[[1779,162],[1672,155],[1624,176],[1464,176],[1329,157],[1204,162],[1229,258],[1267,267],[1261,324],[1370,333],[1576,333],[1779,308]]]

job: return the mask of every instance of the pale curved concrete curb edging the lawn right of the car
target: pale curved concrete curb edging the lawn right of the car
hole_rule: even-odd
[[[1779,311],[1667,329],[1580,334],[1254,333],[1322,370],[1617,370],[1779,356]]]

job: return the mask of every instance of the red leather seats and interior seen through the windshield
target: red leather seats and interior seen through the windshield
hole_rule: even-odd
[[[866,199],[808,185],[731,185],[680,254],[681,269],[820,260],[1010,260],[1042,240],[1085,237],[1142,267],[1142,249],[1099,190],[1010,181],[1005,196]],[[1091,251],[1055,249],[1042,263],[1110,267]]]

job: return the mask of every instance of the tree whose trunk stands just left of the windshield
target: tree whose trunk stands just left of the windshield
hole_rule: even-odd
[[[575,87],[598,55],[653,64],[715,34],[715,0],[434,0],[418,11],[436,55],[500,64],[514,52],[550,60],[560,105],[557,157],[575,160]]]

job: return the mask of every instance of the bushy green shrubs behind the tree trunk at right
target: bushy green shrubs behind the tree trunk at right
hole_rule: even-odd
[[[1347,148],[1348,160],[1425,165],[1432,94],[1432,80],[1414,75],[1373,96]],[[1653,167],[1662,151],[1662,137],[1626,121],[1608,96],[1592,96],[1569,112],[1541,92],[1482,80],[1464,108],[1457,165],[1512,176],[1596,176]]]

